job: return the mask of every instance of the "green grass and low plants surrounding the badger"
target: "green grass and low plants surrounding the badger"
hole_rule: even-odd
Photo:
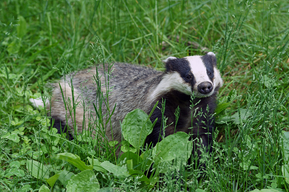
[[[216,149],[204,158],[207,177],[198,181],[193,170],[169,166],[154,188],[143,191],[180,191],[186,186],[190,191],[289,191],[289,144],[283,135],[289,127],[288,9],[287,1],[2,0],[0,191],[51,188],[28,172],[30,160],[45,165],[49,177],[63,170],[80,172],[53,158],[58,153],[73,153],[90,165],[92,145],[68,142],[47,130],[45,110],[33,108],[29,98],[49,95],[50,81],[63,75],[63,58],[71,71],[85,69],[96,36],[105,62],[111,57],[162,69],[167,56],[217,55],[224,87],[216,111]],[[100,152],[94,157],[116,164]],[[100,188],[140,187],[136,178],[94,174]],[[53,191],[64,187],[58,179]]]

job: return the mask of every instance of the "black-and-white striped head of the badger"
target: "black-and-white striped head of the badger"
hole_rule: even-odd
[[[177,90],[202,98],[211,96],[223,85],[216,66],[216,56],[212,52],[204,56],[168,57],[164,63],[166,70],[158,91]]]

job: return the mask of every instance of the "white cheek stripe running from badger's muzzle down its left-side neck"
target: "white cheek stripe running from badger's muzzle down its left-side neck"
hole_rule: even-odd
[[[169,73],[163,76],[161,82],[149,96],[150,100],[155,100],[159,95],[169,92],[171,90],[178,90],[184,94],[191,95],[192,89],[189,84],[181,78],[179,73]]]

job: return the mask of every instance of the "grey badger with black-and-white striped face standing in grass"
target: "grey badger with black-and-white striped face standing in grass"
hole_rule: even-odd
[[[190,139],[203,146],[206,151],[211,151],[214,128],[214,110],[216,108],[216,95],[223,85],[220,72],[216,66],[216,56],[209,52],[204,56],[187,56],[176,58],[169,56],[164,62],[164,71],[158,71],[145,66],[137,66],[127,63],[114,63],[110,74],[109,83],[101,86],[101,92],[105,93],[107,86],[108,100],[101,104],[102,111],[106,111],[107,103],[114,106],[111,115],[111,123],[107,123],[105,136],[108,140],[121,142],[121,123],[127,113],[134,109],[141,109],[149,114],[154,105],[150,119],[158,120],[153,131],[147,136],[146,143],[155,145],[161,136],[168,136],[175,132],[186,132]],[[103,66],[107,68],[107,65]],[[54,84],[51,99],[51,118],[54,119],[54,127],[60,129],[77,126],[77,132],[87,130],[88,124],[93,125],[92,117],[96,120],[95,107],[92,104],[97,100],[96,74],[99,74],[101,82],[108,80],[109,74],[98,69],[79,71],[73,76],[73,80],[62,79]],[[73,84],[73,92],[71,87]],[[106,86],[107,85],[107,86]],[[74,97],[75,112],[68,111],[68,98]],[[165,101],[164,116],[168,125],[162,130],[162,102]],[[66,104],[65,104],[66,103]],[[95,103],[99,107],[99,103]],[[175,125],[175,110],[179,107],[179,118]],[[110,111],[113,109],[111,107]],[[73,114],[71,114],[73,113]],[[192,115],[194,114],[194,115]],[[107,117],[108,115],[104,115]],[[92,134],[100,130],[95,129]],[[119,151],[119,150],[118,150]],[[201,150],[196,147],[197,155]]]

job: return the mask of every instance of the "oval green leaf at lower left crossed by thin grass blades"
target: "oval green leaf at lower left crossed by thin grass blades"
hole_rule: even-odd
[[[27,160],[26,167],[29,172],[32,172],[32,176],[38,179],[49,178],[49,170],[38,161]]]

